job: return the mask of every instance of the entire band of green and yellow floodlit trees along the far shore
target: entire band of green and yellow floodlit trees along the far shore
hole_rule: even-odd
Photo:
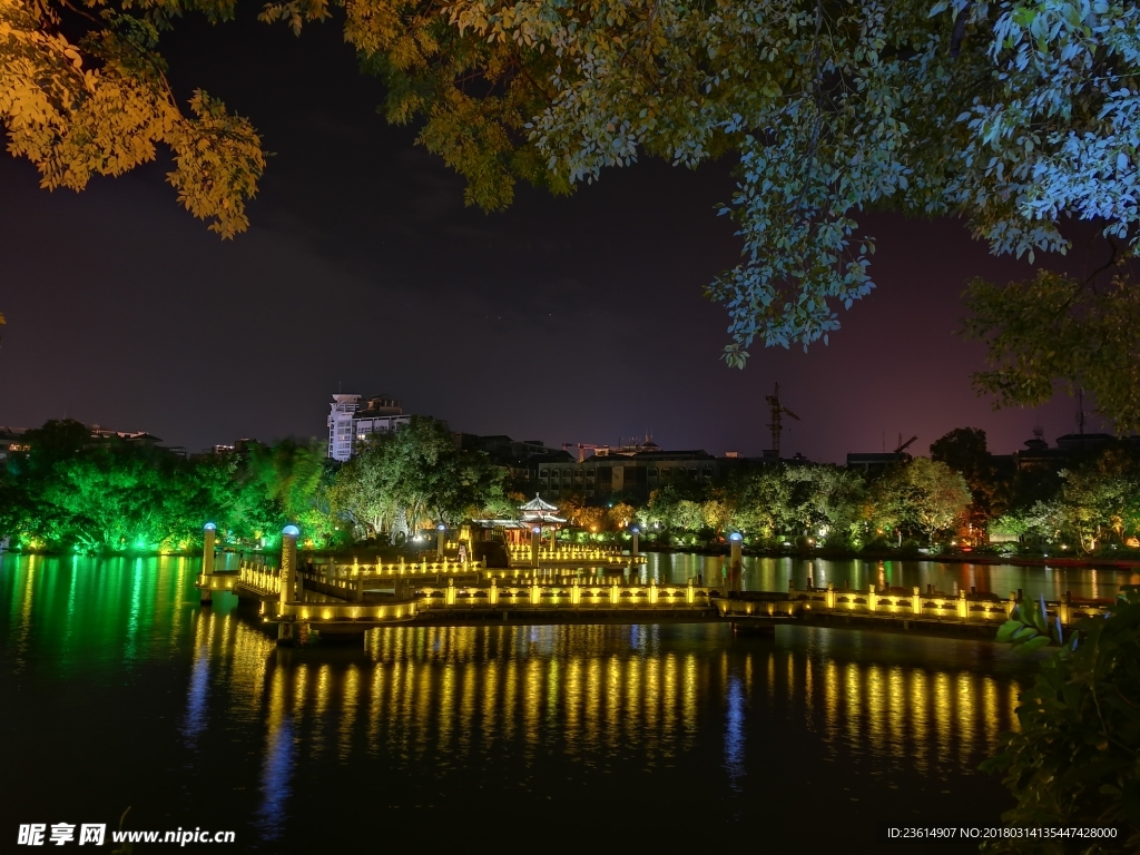
[[[0,538],[26,549],[189,552],[207,520],[222,544],[243,548],[272,547],[287,523],[308,548],[391,545],[440,522],[510,519],[528,487],[513,491],[504,467],[458,450],[426,418],[374,434],[345,464],[321,442],[294,440],[188,459],[92,439],[70,421],[24,440],[28,450],[0,470]],[[720,482],[677,480],[643,503],[555,503],[571,523],[561,537],[624,543],[637,527],[644,548],[718,549],[740,531],[755,552],[1123,556],[1140,547],[1135,445],[1104,446],[1057,472],[1016,469],[988,454],[983,431],[959,429],[931,457],[879,471],[756,463]]]

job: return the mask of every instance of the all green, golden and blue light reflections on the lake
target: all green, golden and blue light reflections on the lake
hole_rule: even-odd
[[[649,570],[684,578],[707,561],[676,559],[653,556]],[[1031,591],[993,568],[888,564],[893,585],[925,572],[943,589],[983,587],[991,573]],[[534,798],[546,806],[548,795],[620,800],[669,781],[706,799],[701,809],[728,799],[725,815],[743,815],[757,788],[787,790],[772,777],[776,764],[813,787],[855,789],[868,780],[857,774],[974,775],[1015,726],[1027,678],[995,645],[803,627],[763,641],[733,640],[719,625],[404,626],[370,632],[356,649],[286,650],[229,595],[198,608],[195,569],[184,559],[0,557],[2,676],[43,715],[60,707],[64,684],[80,697],[108,686],[101,706],[145,715],[100,722],[91,744],[130,750],[84,771],[121,792],[147,781],[161,809],[226,805],[260,839],[279,841],[271,852],[294,846],[298,825],[321,809],[466,805],[484,785],[498,799],[542,793]],[[879,568],[781,559],[748,572],[754,587],[779,589],[789,573],[865,585]],[[1036,572],[1035,584],[1059,584],[1060,571]],[[1118,579],[1084,577],[1102,593]],[[1076,588],[1072,571],[1060,584]],[[14,774],[50,767],[54,746],[19,755]],[[177,792],[142,760],[128,771],[147,750],[147,764],[180,769]]]

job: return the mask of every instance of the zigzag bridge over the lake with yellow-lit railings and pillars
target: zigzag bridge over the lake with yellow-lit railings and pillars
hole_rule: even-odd
[[[400,624],[463,626],[488,620],[519,624],[731,622],[740,632],[771,635],[779,625],[886,629],[917,634],[993,637],[1019,595],[988,592],[956,595],[919,588],[838,591],[807,587],[785,592],[741,592],[739,551],[720,585],[690,578],[683,584],[643,580],[636,557],[625,567],[570,569],[565,560],[548,565],[487,568],[479,562],[325,564],[301,568],[296,537],[283,535],[280,569],[241,563],[237,571],[213,569],[213,531],[206,531],[202,602],[230,592],[256,608],[260,620],[276,625],[280,643],[302,628],[321,636],[359,637],[366,630]],[[295,529],[293,530],[295,532]],[[553,557],[553,556],[552,556]],[[562,556],[559,556],[560,559]],[[627,556],[628,559],[629,556]],[[1047,603],[1050,618],[1068,627],[1084,616],[1105,614],[1106,601]]]

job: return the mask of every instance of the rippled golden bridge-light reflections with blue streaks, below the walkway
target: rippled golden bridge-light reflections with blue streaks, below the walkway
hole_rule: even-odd
[[[209,613],[195,620],[201,643],[184,733],[189,741],[204,726],[210,668],[201,651],[213,646],[231,661],[227,691],[246,698],[269,661],[270,690],[260,701],[263,817],[282,809],[299,747],[312,760],[335,746],[341,763],[364,752],[400,763],[433,757],[446,766],[510,746],[534,759],[556,743],[593,763],[637,752],[652,766],[692,751],[697,733],[715,725],[698,698],[717,684],[730,783],[747,775],[749,730],[781,718],[819,733],[832,754],[868,755],[923,774],[971,774],[999,734],[1016,726],[1018,690],[1009,677],[970,661],[930,667],[877,661],[873,652],[863,661],[849,641],[857,634],[844,640],[841,630],[797,629],[801,637],[707,656],[674,649],[677,637],[695,633],[708,641],[719,627],[674,628],[668,638],[658,626],[393,628],[369,633],[363,652],[320,661],[321,649],[277,651],[243,621],[235,622],[230,645],[215,648],[205,629],[211,621],[217,618]],[[886,643],[895,643],[894,658],[915,645]],[[968,645],[919,644],[937,649],[935,660]],[[661,649],[656,656],[654,648]]]

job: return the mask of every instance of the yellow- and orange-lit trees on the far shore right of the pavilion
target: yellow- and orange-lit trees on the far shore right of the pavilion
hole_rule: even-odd
[[[958,429],[930,454],[878,472],[760,466],[720,484],[670,484],[636,518],[644,543],[675,548],[711,547],[735,530],[763,552],[1140,554],[1135,442],[1075,453],[1059,470],[1018,469],[988,454],[984,431]]]

